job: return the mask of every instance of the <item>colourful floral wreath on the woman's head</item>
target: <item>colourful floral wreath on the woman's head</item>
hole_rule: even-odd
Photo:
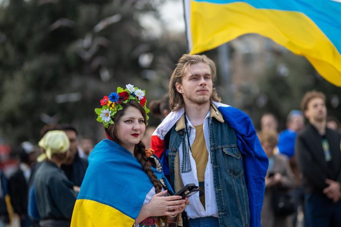
[[[105,128],[109,127],[109,124],[114,124],[113,118],[118,111],[123,109],[122,104],[128,103],[131,100],[138,102],[144,109],[149,119],[147,108],[147,100],[145,91],[134,87],[130,83],[126,85],[126,89],[122,87],[117,88],[117,92],[112,92],[109,96],[104,96],[100,103],[102,108],[96,108],[95,112],[98,115],[97,121],[103,123]]]

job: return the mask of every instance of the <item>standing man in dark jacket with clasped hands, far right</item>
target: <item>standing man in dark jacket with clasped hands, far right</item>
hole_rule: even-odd
[[[309,123],[298,134],[296,152],[305,189],[305,226],[341,226],[341,134],[326,127],[326,98],[307,92],[301,109]]]

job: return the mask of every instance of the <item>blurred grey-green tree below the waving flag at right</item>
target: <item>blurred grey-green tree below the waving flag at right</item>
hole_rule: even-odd
[[[293,109],[300,110],[303,95],[310,90],[322,91],[326,95],[328,114],[341,119],[340,87],[319,76],[302,56],[283,48],[282,51],[272,50],[270,54],[272,60],[257,82],[259,93],[247,107],[257,128],[261,114],[270,112],[278,117],[279,129],[285,129],[287,115]]]

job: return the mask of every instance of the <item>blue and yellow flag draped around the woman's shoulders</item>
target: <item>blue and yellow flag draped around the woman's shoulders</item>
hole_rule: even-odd
[[[131,227],[153,188],[141,164],[111,140],[98,143],[88,161],[71,227]],[[151,168],[171,189],[166,177]]]

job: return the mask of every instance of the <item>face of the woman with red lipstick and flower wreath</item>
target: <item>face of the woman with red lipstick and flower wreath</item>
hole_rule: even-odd
[[[128,107],[118,123],[117,138],[122,147],[134,153],[134,147],[142,139],[146,130],[143,115],[135,107]]]

